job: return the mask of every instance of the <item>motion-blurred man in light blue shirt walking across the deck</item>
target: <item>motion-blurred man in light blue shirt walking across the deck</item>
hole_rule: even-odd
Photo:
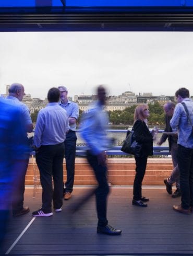
[[[98,87],[98,101],[91,107],[82,121],[81,135],[88,144],[87,160],[94,170],[96,180],[99,185],[95,190],[96,211],[98,215],[97,232],[106,235],[119,235],[122,230],[115,229],[108,225],[106,218],[107,195],[109,187],[107,183],[107,163],[105,150],[110,145],[110,138],[107,138],[105,129],[107,129],[108,117],[104,111],[106,102],[106,91],[101,85]],[[92,193],[90,193],[92,195]]]

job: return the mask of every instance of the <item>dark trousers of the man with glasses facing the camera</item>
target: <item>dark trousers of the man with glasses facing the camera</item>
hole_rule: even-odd
[[[72,192],[75,180],[75,158],[76,158],[76,132],[69,130],[66,134],[65,144],[65,159],[66,159],[66,174],[65,192]]]

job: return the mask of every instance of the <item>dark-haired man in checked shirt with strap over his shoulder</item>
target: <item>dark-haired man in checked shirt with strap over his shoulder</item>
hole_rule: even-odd
[[[178,167],[182,203],[174,205],[174,211],[189,214],[193,210],[193,101],[189,90],[180,88],[175,93],[178,104],[170,121],[172,129],[178,129]],[[183,102],[187,107],[189,117]]]

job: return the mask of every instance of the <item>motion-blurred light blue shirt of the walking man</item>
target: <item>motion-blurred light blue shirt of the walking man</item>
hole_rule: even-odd
[[[83,117],[80,132],[93,155],[100,154],[110,145],[111,140],[105,132],[107,125],[108,115],[100,102],[96,101]]]

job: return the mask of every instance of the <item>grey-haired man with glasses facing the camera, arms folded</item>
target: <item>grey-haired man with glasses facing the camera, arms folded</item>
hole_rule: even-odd
[[[75,157],[76,157],[76,121],[79,116],[78,104],[68,100],[68,90],[65,86],[59,86],[61,92],[61,101],[59,106],[66,110],[69,120],[69,131],[66,134],[65,144],[65,159],[66,159],[66,174],[64,199],[69,200],[71,192],[73,192],[73,185],[75,179]]]

